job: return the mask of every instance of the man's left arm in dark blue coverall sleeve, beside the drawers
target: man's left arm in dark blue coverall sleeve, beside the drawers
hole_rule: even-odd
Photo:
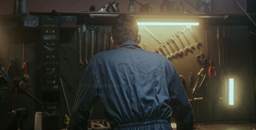
[[[76,94],[68,129],[87,129],[91,108],[98,99],[97,88],[94,86],[92,67],[88,64]]]

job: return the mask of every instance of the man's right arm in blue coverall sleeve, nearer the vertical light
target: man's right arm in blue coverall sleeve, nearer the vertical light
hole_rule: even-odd
[[[182,85],[180,76],[178,76],[176,70],[170,64],[172,74],[169,72],[169,95],[170,106],[173,109],[174,118],[177,122],[177,130],[179,129],[193,129],[194,127],[194,115],[192,106],[188,100],[188,96],[185,93],[185,89]]]

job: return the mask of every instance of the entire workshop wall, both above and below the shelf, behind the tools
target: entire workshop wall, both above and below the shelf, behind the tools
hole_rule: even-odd
[[[55,9],[59,12],[78,12],[88,10],[89,6],[95,5],[96,10],[104,6],[106,1],[28,1],[28,11],[33,12],[50,12]],[[117,1],[119,2],[119,9],[121,12],[126,12],[129,1]],[[159,12],[158,1],[141,1],[142,3],[151,2],[153,11]],[[239,1],[244,8],[246,8],[246,1]],[[88,4],[89,3],[89,4]],[[184,2],[184,4],[186,4]],[[72,6],[70,6],[72,5]],[[136,5],[136,4],[135,4]],[[228,6],[227,6],[228,5]],[[67,7],[68,6],[68,7]],[[188,9],[193,10],[191,5],[186,5]],[[194,4],[195,6],[195,4]],[[0,13],[1,14],[14,14],[14,1],[1,1]],[[136,5],[138,9],[139,6]],[[137,10],[138,11],[138,10]],[[241,9],[234,1],[212,1],[212,12],[214,14],[240,14]],[[15,16],[14,16],[15,17]],[[0,22],[0,62],[5,69],[8,68],[10,62],[10,53],[13,55],[13,59],[18,68],[19,76],[23,76],[21,70],[22,66],[22,43],[25,43],[25,61],[29,63],[29,84],[28,90],[31,94],[41,99],[41,86],[40,86],[40,29],[36,28],[22,28],[20,17],[14,18],[11,21]],[[110,30],[110,27],[103,25],[96,25],[100,30]],[[149,27],[149,29],[155,34],[159,40],[167,41],[170,35],[175,35],[175,32],[181,27]],[[206,30],[207,28],[207,30]],[[222,25],[220,25],[222,30]],[[207,77],[207,83],[203,84],[199,89],[199,92],[193,96],[190,90],[187,90],[189,98],[201,98],[206,100],[191,102],[194,108],[196,121],[233,121],[233,120],[251,120],[255,118],[255,109],[252,109],[252,89],[251,89],[251,77],[249,76],[250,70],[250,44],[255,43],[255,36],[252,35],[254,42],[249,41],[249,30],[246,25],[226,25],[226,37],[221,38],[221,66],[219,67],[219,57],[217,48],[216,30],[217,26],[212,25],[205,27],[200,25],[193,27],[196,36],[203,43],[203,46],[193,51],[193,53],[187,53],[182,57],[172,59],[171,62],[176,67],[179,74],[182,74],[187,80],[189,80],[192,72],[191,86],[195,85],[197,73],[202,68],[201,62],[196,60],[196,55],[200,52],[204,52],[207,56],[207,62],[209,59],[214,61],[216,67],[217,77]],[[228,35],[230,32],[230,35]],[[142,34],[142,43],[140,47],[143,49],[152,51],[156,47],[159,47],[159,43],[156,42],[148,33],[140,31]],[[63,49],[60,48],[60,64],[61,75],[63,79],[67,81],[63,82],[70,108],[73,106],[75,93],[78,89],[79,81],[85,68],[78,69],[78,41],[77,41],[76,29],[60,29],[60,42]],[[84,38],[83,38],[84,39]],[[102,36],[100,40],[102,40]],[[96,38],[95,38],[96,41]],[[108,39],[107,39],[108,41]],[[102,41],[101,41],[102,42]],[[171,43],[173,44],[173,43]],[[223,46],[222,46],[223,45]],[[255,44],[251,44],[255,50]],[[84,44],[82,44],[84,48]],[[88,47],[90,48],[90,46]],[[177,48],[176,48],[177,49]],[[84,50],[83,50],[84,51]],[[254,52],[254,51],[253,51]],[[65,55],[66,54],[66,55]],[[65,57],[68,57],[66,59]],[[254,52],[254,64],[255,64],[255,52]],[[84,60],[84,57],[82,57]],[[68,62],[71,63],[69,67]],[[222,75],[221,75],[222,74]],[[228,106],[227,101],[227,88],[226,80],[222,77],[228,77],[229,75],[235,78],[235,105]],[[221,77],[222,76],[222,77]],[[254,69],[254,85],[255,85],[255,69]],[[185,87],[189,86],[185,83]],[[187,88],[188,89],[188,88]],[[0,128],[1,129],[16,129],[17,118],[11,115],[7,115],[11,111],[11,93],[12,87],[8,90],[7,103],[0,106]],[[254,88],[255,90],[255,88]],[[254,92],[255,93],[255,92]],[[63,128],[63,118],[67,114],[67,108],[63,95],[61,92],[61,116],[58,118],[44,118],[44,128]],[[15,95],[15,107],[17,108],[17,95]],[[240,101],[239,101],[240,100]],[[254,98],[255,101],[255,98]],[[21,94],[22,107],[25,107],[29,111],[28,118],[24,121],[23,129],[34,129],[34,116],[36,111],[41,111],[40,103],[31,99],[26,94]],[[197,107],[198,106],[198,107]],[[92,118],[99,119],[103,116],[100,113],[103,109],[98,102],[94,108]],[[254,116],[253,116],[254,113]]]

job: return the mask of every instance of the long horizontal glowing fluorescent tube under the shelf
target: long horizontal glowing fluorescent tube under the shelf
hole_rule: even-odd
[[[199,25],[199,23],[189,22],[137,22],[138,25]]]

